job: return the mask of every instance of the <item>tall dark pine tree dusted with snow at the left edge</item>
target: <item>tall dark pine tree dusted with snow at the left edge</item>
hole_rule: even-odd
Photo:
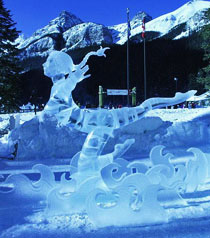
[[[15,44],[19,31],[15,28],[10,10],[0,0],[0,111],[19,109],[20,72],[19,50]]]

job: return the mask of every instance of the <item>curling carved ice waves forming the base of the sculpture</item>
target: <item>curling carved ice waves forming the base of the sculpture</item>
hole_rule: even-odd
[[[132,140],[128,140],[117,145],[117,154],[123,156],[132,143]],[[100,151],[99,147],[94,148]],[[86,149],[83,148],[81,153],[86,154]],[[178,165],[171,163],[172,155],[163,154],[163,149],[162,146],[152,149],[151,166],[141,161],[128,162],[117,157],[113,161],[106,161],[107,165],[102,169],[94,167],[84,172],[74,171],[70,180],[63,173],[57,182],[47,166],[36,165],[32,170],[41,174],[37,182],[17,174],[10,175],[0,183],[0,204],[8,206],[14,200],[17,204],[47,201],[47,216],[87,214],[97,227],[167,222],[167,209],[187,207],[185,194],[199,190],[199,186],[207,182],[208,167],[204,153],[196,148],[189,150],[194,153],[190,161]],[[111,154],[112,158],[114,154],[116,148]],[[194,163],[198,155],[201,164]],[[101,157],[100,153],[98,157]],[[199,174],[193,178],[196,170]],[[6,186],[10,190],[2,191],[1,188]],[[190,198],[189,195],[187,197]]]

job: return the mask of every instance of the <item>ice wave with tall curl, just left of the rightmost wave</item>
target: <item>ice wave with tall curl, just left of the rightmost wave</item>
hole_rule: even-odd
[[[150,151],[152,167],[145,174],[153,184],[159,184],[164,188],[158,193],[158,200],[165,206],[170,206],[171,203],[185,206],[187,203],[180,193],[184,192],[187,186],[184,181],[187,176],[186,167],[181,164],[174,166],[170,161],[173,155],[170,153],[163,155],[164,148],[162,145],[152,148]]]

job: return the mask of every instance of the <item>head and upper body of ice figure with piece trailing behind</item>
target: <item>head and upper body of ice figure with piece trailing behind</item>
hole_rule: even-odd
[[[85,75],[89,67],[86,65],[91,55],[105,56],[108,48],[100,48],[96,52],[88,53],[79,65],[74,65],[71,57],[61,51],[50,53],[47,61],[43,64],[44,74],[52,79],[50,99],[45,106],[45,113],[57,114],[67,108],[74,108],[76,104],[72,99],[72,91],[77,83],[90,75]]]

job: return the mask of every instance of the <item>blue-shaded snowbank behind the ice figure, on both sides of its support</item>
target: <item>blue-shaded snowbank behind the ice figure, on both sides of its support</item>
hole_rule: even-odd
[[[25,123],[21,124],[23,121]],[[9,116],[1,116],[0,127],[8,123]],[[103,153],[113,151],[116,143],[130,138],[135,138],[136,142],[127,152],[128,157],[133,154],[146,157],[151,148],[159,144],[172,150],[196,146],[208,151],[209,124],[209,108],[156,109],[148,112],[145,118],[115,130],[115,137],[109,140]],[[18,143],[17,160],[69,159],[81,150],[86,136],[73,128],[58,126],[55,118],[39,122],[34,114],[26,113],[20,115],[20,125],[8,138],[1,139],[0,147],[3,152],[8,141],[10,145]]]

